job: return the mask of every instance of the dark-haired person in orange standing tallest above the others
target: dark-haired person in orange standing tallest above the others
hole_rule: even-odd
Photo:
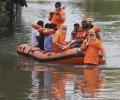
[[[55,10],[49,13],[49,21],[57,25],[57,29],[65,23],[66,14],[64,9],[61,7],[61,2],[55,3]]]

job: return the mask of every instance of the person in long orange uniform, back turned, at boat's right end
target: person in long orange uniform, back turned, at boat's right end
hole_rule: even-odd
[[[80,47],[82,51],[85,52],[84,64],[99,64],[99,52],[103,55],[103,59],[106,58],[105,50],[102,46],[101,41],[96,38],[94,28],[88,31],[88,36],[84,40],[82,46]]]

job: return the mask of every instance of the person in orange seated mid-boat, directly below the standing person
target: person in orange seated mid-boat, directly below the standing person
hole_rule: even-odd
[[[66,44],[66,42],[65,42],[66,32],[67,32],[67,27],[62,26],[54,34],[53,40],[52,40],[54,52],[59,52],[60,50],[62,50],[63,46]]]

